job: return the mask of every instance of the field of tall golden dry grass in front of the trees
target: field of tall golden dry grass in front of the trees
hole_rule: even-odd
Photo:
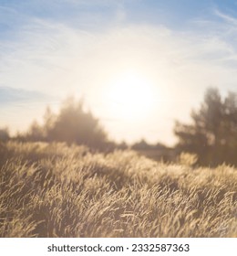
[[[0,144],[0,237],[237,237],[237,169]]]

